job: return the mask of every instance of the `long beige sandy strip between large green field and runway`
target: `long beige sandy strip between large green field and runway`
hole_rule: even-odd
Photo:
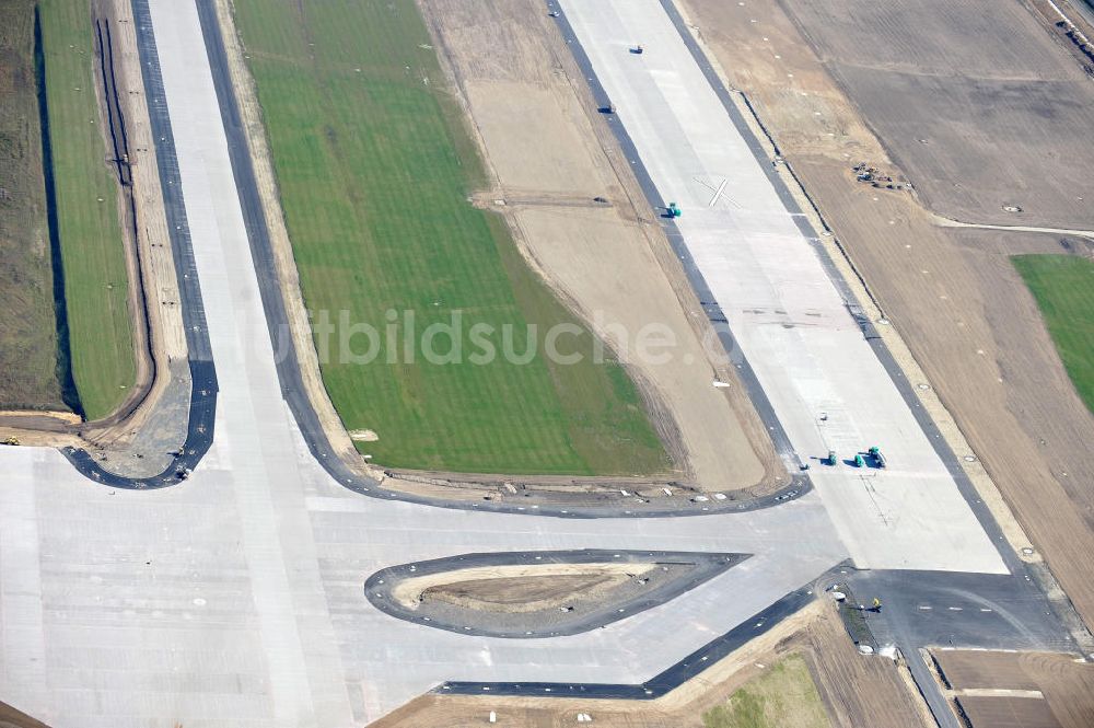
[[[542,3],[420,4],[487,160],[489,197],[505,200],[494,209],[529,263],[627,361],[655,418],[670,420],[656,424],[684,479],[719,490],[784,477]],[[635,350],[653,323],[677,342],[665,363]]]

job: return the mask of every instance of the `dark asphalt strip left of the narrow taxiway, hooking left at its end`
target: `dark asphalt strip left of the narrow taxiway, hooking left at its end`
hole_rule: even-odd
[[[61,454],[77,471],[96,483],[116,488],[144,489],[163,488],[182,483],[209,451],[212,446],[219,388],[148,0],[132,0],[132,12],[138,50],[143,65],[141,77],[148,100],[149,122],[153,136],[158,138],[156,165],[171,234],[171,253],[175,261],[175,275],[178,280],[179,307],[186,326],[191,388],[186,440],[171,464],[162,473],[151,477],[133,478],[112,473],[95,462],[91,453],[80,448],[61,448]]]

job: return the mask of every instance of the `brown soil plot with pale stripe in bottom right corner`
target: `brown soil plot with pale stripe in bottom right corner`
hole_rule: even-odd
[[[1094,725],[1094,666],[1051,652],[934,650],[936,674],[974,728]]]

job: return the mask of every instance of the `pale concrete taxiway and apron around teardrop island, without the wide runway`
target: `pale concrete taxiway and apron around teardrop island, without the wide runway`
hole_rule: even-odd
[[[577,520],[365,498],[316,462],[282,398],[193,3],[151,22],[217,363],[216,438],[186,482],[90,483],[0,451],[0,694],[57,726],[351,726],[446,680],[633,684],[847,556],[815,496],[687,519]],[[377,569],[491,551],[753,553],[604,629],[465,637],[363,596]]]

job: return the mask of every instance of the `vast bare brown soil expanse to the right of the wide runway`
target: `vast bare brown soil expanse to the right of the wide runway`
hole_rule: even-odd
[[[940,119],[964,115],[973,119],[967,122],[971,124],[981,116],[1004,115],[1005,124],[997,120],[985,128],[1001,135],[1000,127],[1027,132],[1003,135],[994,147],[987,142],[974,145],[970,149],[980,150],[981,155],[969,157],[965,157],[963,140],[938,130],[933,142],[927,132],[918,137],[927,139],[926,145],[915,134],[909,140],[908,134],[899,130],[891,131],[894,141],[885,139],[883,143],[871,130],[880,128],[880,123],[873,116],[863,116],[872,107],[857,95],[872,91],[859,90],[848,81],[846,90],[852,94],[849,97],[839,83],[842,77],[829,72],[841,67],[834,68],[835,61],[824,56],[842,47],[835,37],[846,25],[836,24],[831,14],[843,18],[843,10],[828,3],[824,5],[828,11],[823,12],[817,3],[799,0],[754,0],[745,7],[714,0],[685,0],[682,4],[731,84],[748,95],[864,277],[871,294],[908,344],[927,374],[928,382],[922,384],[938,392],[1080,613],[1087,622],[1094,620],[1094,562],[1090,559],[1094,553],[1094,488],[1090,487],[1094,482],[1094,451],[1089,447],[1094,441],[1094,417],[1075,394],[1036,303],[1010,262],[1013,254],[1031,252],[1090,255],[1090,245],[1075,235],[944,228],[924,207],[924,201],[933,204],[936,197],[950,199],[935,178],[944,175],[932,172],[930,166],[941,164],[932,159],[945,157],[957,160],[953,180],[975,194],[962,198],[964,207],[944,211],[978,221],[1003,219],[1021,224],[1022,213],[1001,210],[998,199],[1016,184],[1015,175],[1043,174],[1024,177],[1023,184],[1038,189],[1041,178],[1052,176],[1044,170],[1034,171],[1046,153],[1045,145],[1055,145],[1056,153],[1071,159],[1069,164],[1076,169],[1089,167],[1089,160],[1083,160],[1094,154],[1094,148],[1067,141],[1089,132],[1083,112],[1067,115],[1069,131],[1050,139],[1035,132],[1044,126],[1038,94],[1031,95],[1025,105],[1011,94],[1005,108],[970,99]],[[807,4],[811,7],[805,8]],[[878,34],[874,41],[860,37],[863,45],[856,47],[857,62],[876,67],[878,73],[888,72],[886,69],[897,60],[906,67],[924,58],[927,74],[938,74],[936,65],[945,61],[950,69],[946,72],[954,77],[961,76],[963,65],[973,69],[970,72],[981,69],[984,73],[1002,73],[992,69],[1010,69],[1008,73],[1015,76],[1016,67],[1026,62],[1033,69],[1029,73],[1040,74],[1035,78],[1059,78],[1070,84],[1069,93],[1089,93],[1080,83],[1089,81],[1067,68],[1067,63],[1074,62],[1071,56],[1055,48],[1055,41],[1046,35],[1049,31],[1032,15],[1027,19],[1028,12],[1017,4],[1016,10],[992,5],[999,12],[989,14],[976,3],[918,2],[918,12],[912,15],[901,10],[906,5],[866,4],[853,2],[847,7],[859,8],[863,16],[851,23],[852,27],[860,27],[856,23],[872,23],[854,33],[869,34],[874,28]],[[888,14],[880,16],[882,9]],[[947,21],[930,20],[934,11],[943,13]],[[811,47],[788,12],[799,13],[798,23],[807,26],[808,37],[818,44],[819,51]],[[852,10],[847,13],[854,15]],[[986,23],[999,23],[1002,30],[965,32]],[[1000,33],[1012,34],[1010,41],[986,41]],[[897,36],[899,44],[886,45],[896,43]],[[829,47],[834,50],[827,50]],[[1029,60],[1015,60],[1014,54],[1021,56],[1025,48],[1029,48]],[[992,60],[996,56],[998,59]],[[968,83],[967,79],[955,81],[956,86]],[[897,106],[906,109],[907,118],[916,118],[919,112],[912,107],[927,104],[927,96],[933,93],[926,86],[903,88],[904,97],[884,94],[891,104],[884,111],[886,118],[900,115]],[[1056,120],[1062,124],[1063,117]],[[942,120],[935,124],[942,125]],[[886,151],[899,140],[903,146],[898,152]],[[991,149],[993,155],[985,157]],[[897,153],[900,164],[895,160]],[[912,164],[909,160],[918,153],[931,158],[917,162],[920,166],[903,166]],[[857,181],[852,166],[860,162],[877,170],[874,181]],[[998,167],[999,180],[984,182],[985,175],[970,176],[971,170],[982,167]],[[926,170],[922,181],[916,176],[921,170]],[[964,177],[957,176],[962,170]],[[1073,173],[1060,174],[1068,178]],[[883,180],[875,186],[876,176],[892,177],[893,182]],[[904,182],[911,182],[915,189],[887,188],[888,184],[903,186]],[[981,183],[986,186],[979,187]],[[1036,219],[1046,227],[1085,220],[1083,227],[1090,228],[1090,203],[1076,199],[1092,199],[1081,192],[1089,182],[1073,183],[1067,188],[1070,197],[1060,188],[1044,194],[1026,190],[1028,194],[1015,204],[1036,209]]]

